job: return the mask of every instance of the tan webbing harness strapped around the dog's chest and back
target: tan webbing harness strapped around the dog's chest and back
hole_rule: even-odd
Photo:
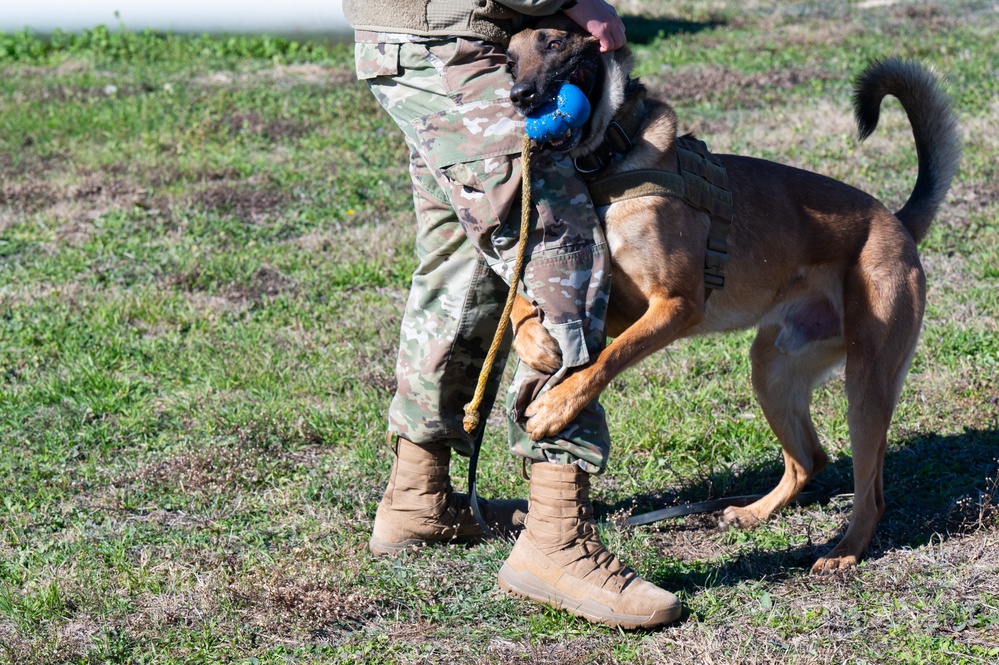
[[[708,289],[725,285],[728,229],[732,223],[732,191],[728,173],[703,141],[691,135],[676,140],[680,173],[639,169],[594,178],[588,183],[593,205],[607,206],[641,196],[675,196],[707,213],[711,220],[704,256]],[[710,291],[709,291],[710,293]]]

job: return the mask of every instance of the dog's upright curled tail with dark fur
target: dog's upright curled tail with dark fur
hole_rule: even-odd
[[[957,122],[932,73],[911,60],[886,58],[871,63],[854,87],[853,108],[861,141],[878,126],[885,95],[902,102],[916,139],[916,186],[895,216],[919,242],[929,231],[961,161]]]

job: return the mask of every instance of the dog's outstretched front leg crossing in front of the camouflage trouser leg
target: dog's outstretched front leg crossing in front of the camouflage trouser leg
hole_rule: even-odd
[[[650,299],[645,314],[601,351],[592,364],[573,372],[527,407],[527,433],[535,441],[558,434],[615,376],[668,346],[703,316],[704,306],[696,297]]]

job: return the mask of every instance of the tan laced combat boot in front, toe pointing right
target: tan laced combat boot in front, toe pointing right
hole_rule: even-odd
[[[676,596],[640,578],[600,542],[589,474],[575,464],[532,465],[527,525],[499,584],[614,627],[652,628],[680,616]]]

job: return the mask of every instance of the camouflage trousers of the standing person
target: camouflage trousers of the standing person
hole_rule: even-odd
[[[523,122],[509,101],[512,79],[496,45],[357,33],[358,78],[402,129],[418,222],[413,275],[402,321],[390,431],[416,443],[444,441],[469,453],[464,405],[502,313],[520,232]],[[603,470],[609,436],[594,400],[558,436],[531,441],[523,410],[566,369],[604,345],[610,253],[585,185],[571,161],[541,154],[531,171],[532,231],[521,284],[545,313],[563,370],[542,375],[518,363],[508,392],[513,452]],[[483,411],[495,399],[504,352]],[[518,424],[520,423],[520,424]]]

